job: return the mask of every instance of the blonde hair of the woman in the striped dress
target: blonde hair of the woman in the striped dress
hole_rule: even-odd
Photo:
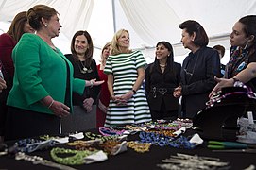
[[[121,37],[121,35],[124,33],[124,32],[127,32],[128,33],[128,30],[126,29],[120,29],[119,31],[117,31],[113,38],[112,38],[112,41],[111,41],[111,55],[118,55],[118,54],[121,54],[121,53],[124,53],[122,51],[122,49],[120,49],[120,46],[118,44],[118,39]],[[129,33],[128,33],[129,35]],[[128,49],[128,53],[130,53],[131,50]]]

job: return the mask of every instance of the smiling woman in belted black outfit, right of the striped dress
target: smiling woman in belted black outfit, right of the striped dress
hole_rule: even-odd
[[[173,91],[179,86],[181,65],[174,62],[169,42],[158,42],[155,61],[145,70],[145,93],[152,120],[176,119],[179,98]]]

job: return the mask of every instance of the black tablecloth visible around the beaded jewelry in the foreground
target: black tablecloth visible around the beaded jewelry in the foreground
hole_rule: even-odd
[[[96,131],[96,130],[94,130]],[[193,134],[193,130],[188,130],[187,135]],[[134,136],[128,136],[129,140],[134,140]],[[10,144],[10,143],[7,143]],[[66,144],[59,144],[58,147],[66,147]],[[219,158],[220,161],[230,162],[230,169],[245,169],[251,164],[256,165],[255,154],[252,153],[225,153],[225,152],[213,152],[206,147],[206,144],[201,144],[195,149],[179,149],[169,146],[157,146],[151,145],[150,151],[145,153],[137,153],[133,149],[128,148],[126,152],[123,152],[116,156],[108,156],[107,161],[95,162],[92,164],[76,165],[72,166],[76,169],[106,169],[106,170],[151,170],[151,169],[161,169],[157,164],[161,164],[163,159],[169,158],[171,155],[176,155],[177,153],[198,155],[204,157]],[[47,150],[35,151],[29,155],[37,155],[43,157],[48,161],[53,161],[50,156],[50,148]],[[26,170],[45,170],[45,169],[56,169],[52,167],[47,167],[43,165],[34,165],[30,161],[16,161],[13,157],[0,156],[0,170],[16,170],[16,169],[26,169]]]

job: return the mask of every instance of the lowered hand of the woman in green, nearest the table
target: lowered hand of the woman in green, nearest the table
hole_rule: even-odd
[[[70,108],[59,101],[54,101],[49,109],[58,117],[65,117],[70,114]]]

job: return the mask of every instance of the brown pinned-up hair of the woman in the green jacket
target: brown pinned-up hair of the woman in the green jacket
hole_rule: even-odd
[[[42,27],[42,18],[50,20],[52,16],[60,14],[54,9],[45,5],[36,5],[27,11],[28,23],[35,30],[40,30]]]

